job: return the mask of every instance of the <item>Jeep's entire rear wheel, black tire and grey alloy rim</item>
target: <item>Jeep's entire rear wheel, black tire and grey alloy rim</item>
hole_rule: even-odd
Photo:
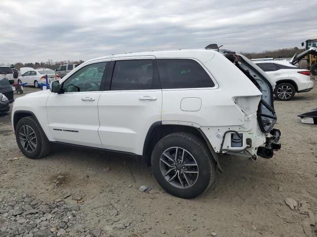
[[[163,137],[153,150],[152,169],[166,192],[182,198],[204,193],[215,176],[215,163],[205,144],[189,133]]]

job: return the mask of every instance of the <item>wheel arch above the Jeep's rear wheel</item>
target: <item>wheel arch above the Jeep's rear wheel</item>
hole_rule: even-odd
[[[147,164],[151,166],[151,155],[155,145],[159,142],[159,140],[168,134],[173,132],[187,132],[199,137],[211,155],[211,158],[216,162],[219,170],[222,172],[220,164],[218,162],[218,154],[213,150],[210,141],[204,132],[197,127],[189,126],[189,125],[177,125],[177,124],[162,124],[161,121],[157,121],[151,125],[146,135],[144,145],[143,145],[143,157],[146,159]]]

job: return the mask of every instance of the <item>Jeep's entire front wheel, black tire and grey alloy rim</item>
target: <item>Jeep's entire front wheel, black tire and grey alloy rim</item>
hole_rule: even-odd
[[[15,138],[21,152],[28,158],[38,159],[50,153],[49,140],[33,117],[24,117],[18,121]]]

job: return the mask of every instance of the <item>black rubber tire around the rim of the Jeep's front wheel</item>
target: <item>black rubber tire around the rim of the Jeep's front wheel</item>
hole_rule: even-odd
[[[29,132],[32,129],[33,132],[35,133],[35,136],[36,136],[36,139],[33,140],[33,141],[36,141],[36,146],[32,146],[32,147],[30,146],[29,147],[30,148],[29,150],[32,150],[35,147],[33,152],[28,151],[27,149],[25,149],[23,147],[22,141],[20,139],[20,136],[22,136],[20,134],[20,131],[22,131],[22,133],[23,133],[23,129],[24,129],[23,126],[25,126],[25,125],[28,127]],[[21,130],[21,128],[22,128],[22,130]],[[31,132],[32,132],[32,130],[31,130]],[[31,138],[31,134],[28,135],[28,137]],[[44,156],[47,156],[50,153],[49,140],[47,139],[43,129],[41,128],[41,125],[36,121],[36,119],[34,119],[31,116],[21,118],[18,121],[18,123],[16,124],[16,128],[15,128],[15,138],[16,138],[16,142],[18,144],[18,147],[20,148],[20,151],[27,158],[38,159],[38,158],[42,158]],[[27,146],[27,148],[28,148],[28,146]]]

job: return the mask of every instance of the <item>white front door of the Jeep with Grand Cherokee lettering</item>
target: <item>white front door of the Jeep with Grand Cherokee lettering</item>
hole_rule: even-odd
[[[98,135],[98,101],[107,62],[87,65],[61,82],[63,93],[51,93],[47,115],[55,141],[102,147]]]

